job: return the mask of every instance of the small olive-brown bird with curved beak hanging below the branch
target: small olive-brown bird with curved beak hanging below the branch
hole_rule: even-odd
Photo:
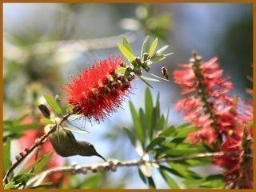
[[[54,133],[49,135],[50,142],[54,146],[54,150],[62,157],[69,157],[73,155],[81,156],[98,156],[105,162],[106,159],[98,154],[94,146],[90,142],[79,142],[74,138],[74,134],[70,130],[59,126]]]

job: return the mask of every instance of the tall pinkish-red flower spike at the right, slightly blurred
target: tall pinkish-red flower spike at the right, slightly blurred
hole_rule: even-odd
[[[230,97],[233,84],[229,78],[222,77],[217,58],[202,62],[202,58],[194,54],[190,64],[181,66],[182,70],[174,71],[174,82],[182,87],[182,94],[190,95],[180,100],[176,108],[183,112],[186,121],[200,128],[189,134],[188,140],[208,143],[224,153],[238,154],[214,160],[226,168],[224,175],[230,187],[252,187],[252,172],[248,173],[252,164],[245,162],[243,156],[252,146],[251,142],[249,146],[244,145],[245,140],[252,138],[251,128],[244,134],[244,127],[253,119],[252,105],[249,102],[240,105],[238,97]],[[250,182],[241,182],[246,176]]]

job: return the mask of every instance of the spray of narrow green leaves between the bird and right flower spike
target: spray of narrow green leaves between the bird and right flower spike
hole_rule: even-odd
[[[145,92],[144,108],[136,110],[133,103],[130,102],[130,113],[133,117],[134,127],[124,128],[124,131],[142,159],[146,157],[152,159],[187,157],[209,152],[209,149],[202,144],[194,145],[186,142],[187,135],[197,130],[197,127],[189,124],[168,125],[168,117],[162,114],[160,109],[159,94],[154,104],[148,88]],[[157,169],[171,189],[180,188],[180,184],[175,182],[174,176],[181,178],[183,185],[187,187],[222,188],[224,183],[222,176],[205,176],[191,170],[193,167],[209,166],[210,164],[211,158],[183,158],[179,161],[167,162],[165,166],[160,165]],[[153,169],[152,165],[140,166],[138,175],[146,185],[154,188],[154,178],[150,174],[151,169]],[[210,186],[210,184],[212,185]]]

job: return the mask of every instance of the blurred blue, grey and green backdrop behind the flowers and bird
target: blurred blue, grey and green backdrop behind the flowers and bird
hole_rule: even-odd
[[[192,50],[204,60],[217,56],[226,76],[234,82],[234,94],[250,99],[246,88],[252,87],[252,6],[250,4],[4,4],[4,119],[24,114],[36,115],[42,94],[58,94],[59,88],[74,74],[97,59],[119,55],[117,42],[122,36],[140,54],[146,35],[158,37],[160,46],[170,45],[174,54],[152,67],[161,75],[161,67],[170,71],[187,63]],[[170,109],[170,124],[181,124],[182,116],[174,110],[179,89],[170,82],[152,82],[154,98],[160,93],[162,112]],[[86,140],[105,158],[136,159],[122,127],[132,126],[128,101],[142,106],[145,84],[134,82],[133,94],[104,122],[77,121],[90,134],[75,134]],[[19,143],[16,143],[19,146]],[[13,145],[14,154],[19,148]],[[20,146],[21,147],[21,146]],[[69,162],[87,164],[99,158],[74,156]],[[158,188],[166,188],[162,178],[153,174]],[[79,175],[79,181],[102,188],[146,188],[137,168],[120,168],[116,173]],[[76,180],[76,182],[77,182]],[[74,187],[77,187],[74,182]]]

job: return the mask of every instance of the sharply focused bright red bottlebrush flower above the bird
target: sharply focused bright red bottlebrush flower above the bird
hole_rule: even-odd
[[[115,73],[123,63],[121,57],[110,57],[71,78],[62,90],[74,110],[99,121],[121,106],[130,88],[130,79]]]

